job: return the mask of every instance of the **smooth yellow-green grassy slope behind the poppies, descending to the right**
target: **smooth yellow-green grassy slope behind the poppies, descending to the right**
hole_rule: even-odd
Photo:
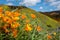
[[[47,27],[47,25],[51,25],[53,28],[59,26],[57,21],[51,19],[50,17],[48,17],[46,15],[43,15],[43,14],[38,13],[38,12],[35,12],[33,10],[25,8],[25,9],[20,10],[20,12],[21,13],[26,13],[26,14],[34,13],[37,17],[39,17],[40,25],[43,26],[43,27],[45,27],[45,26]]]

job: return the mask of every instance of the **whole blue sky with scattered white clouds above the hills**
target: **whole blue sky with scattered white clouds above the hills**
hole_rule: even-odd
[[[23,5],[42,12],[60,10],[60,0],[0,0],[0,4]]]

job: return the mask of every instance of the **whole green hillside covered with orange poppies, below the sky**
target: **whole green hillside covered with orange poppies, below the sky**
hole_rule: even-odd
[[[29,8],[0,6],[0,40],[60,40],[60,23]]]

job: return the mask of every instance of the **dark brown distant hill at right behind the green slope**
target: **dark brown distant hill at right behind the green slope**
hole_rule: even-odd
[[[60,21],[60,10],[58,11],[52,11],[52,12],[41,12],[57,21]]]

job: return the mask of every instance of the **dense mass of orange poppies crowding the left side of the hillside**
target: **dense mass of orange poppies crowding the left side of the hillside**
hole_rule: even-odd
[[[2,29],[5,33],[12,32],[12,36],[17,36],[17,28],[20,26],[19,20],[20,13],[5,11],[3,12],[2,7],[0,7],[0,20],[4,23]],[[11,30],[10,30],[11,29]]]

